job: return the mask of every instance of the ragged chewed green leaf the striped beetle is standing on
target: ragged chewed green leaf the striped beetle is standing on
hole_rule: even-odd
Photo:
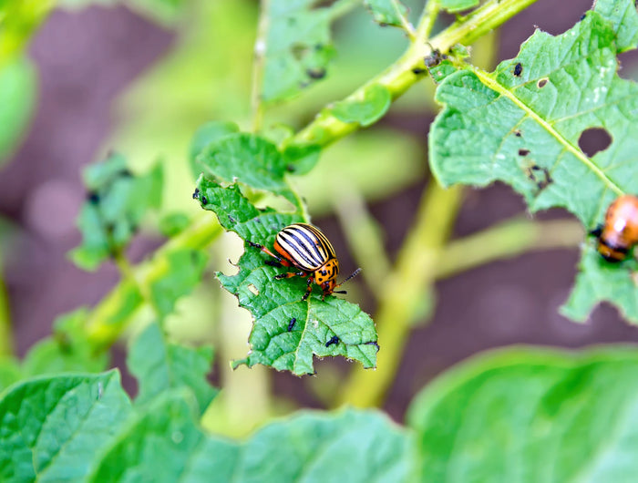
[[[202,208],[214,211],[221,226],[246,241],[239,272],[232,276],[218,273],[222,286],[254,317],[251,353],[236,365],[270,365],[295,375],[314,373],[314,355],[344,355],[365,367],[376,365],[376,329],[369,315],[335,296],[322,301],[317,290],[303,301],[305,280],[274,280],[276,274],[290,270],[268,265],[272,260],[249,245],[272,247],[283,227],[304,221],[300,215],[258,210],[236,185],[223,188],[203,176],[196,193]]]

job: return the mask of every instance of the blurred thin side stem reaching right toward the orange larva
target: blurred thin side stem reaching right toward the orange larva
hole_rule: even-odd
[[[466,272],[489,262],[512,258],[527,252],[574,248],[584,231],[578,221],[530,221],[515,218],[485,231],[450,241],[436,267],[442,279]]]

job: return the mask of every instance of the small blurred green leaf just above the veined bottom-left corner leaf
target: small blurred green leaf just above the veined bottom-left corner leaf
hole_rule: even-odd
[[[86,309],[60,315],[54,335],[33,345],[23,361],[25,375],[69,372],[98,373],[108,367],[108,353],[95,351],[87,340]]]

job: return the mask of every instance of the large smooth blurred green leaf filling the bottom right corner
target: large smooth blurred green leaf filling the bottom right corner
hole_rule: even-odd
[[[448,371],[408,411],[420,481],[633,481],[638,352],[517,349]]]

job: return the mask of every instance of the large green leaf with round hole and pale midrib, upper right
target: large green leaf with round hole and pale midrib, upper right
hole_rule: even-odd
[[[633,5],[617,2],[625,3]],[[638,85],[616,74],[615,44],[636,16],[633,8],[622,24],[614,24],[589,12],[561,36],[537,31],[518,57],[493,74],[466,69],[446,77],[437,89],[444,108],[429,139],[437,179],[478,186],[502,180],[524,196],[530,211],[561,206],[589,229],[602,222],[612,200],[638,192],[638,137],[632,134]],[[590,128],[612,137],[592,158],[578,148]],[[630,316],[623,301],[638,297],[638,289],[623,287],[630,292],[614,303]]]

